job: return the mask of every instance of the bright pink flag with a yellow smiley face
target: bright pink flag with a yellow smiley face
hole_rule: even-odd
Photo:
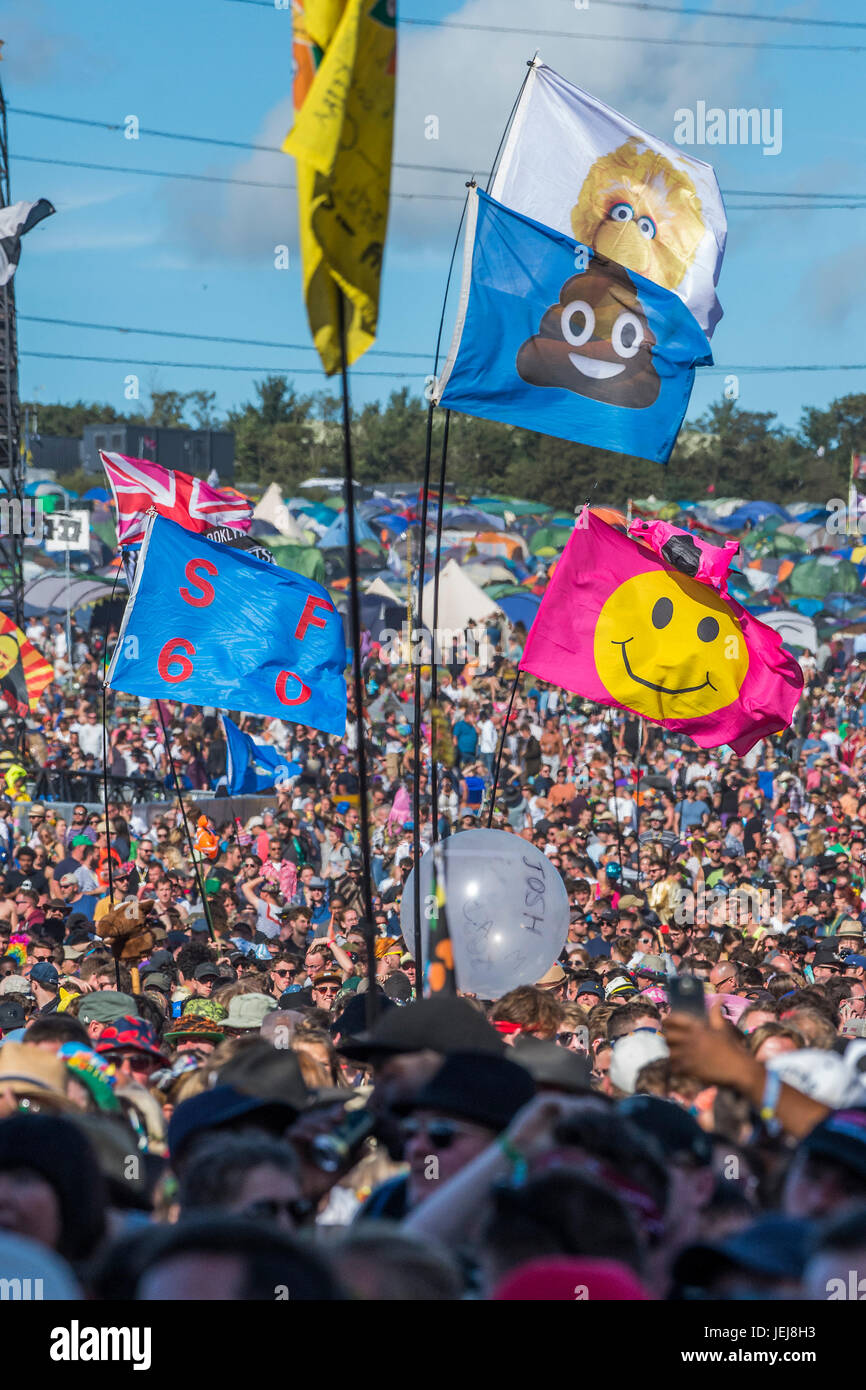
[[[587,509],[520,667],[740,755],[788,727],[803,687],[773,628]]]

